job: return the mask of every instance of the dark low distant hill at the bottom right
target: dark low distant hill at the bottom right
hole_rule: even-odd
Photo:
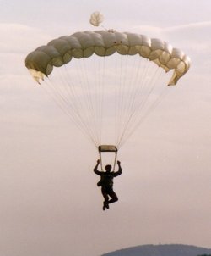
[[[199,248],[183,244],[149,244],[125,248],[101,256],[205,256],[208,254],[211,254],[211,249],[208,248]]]

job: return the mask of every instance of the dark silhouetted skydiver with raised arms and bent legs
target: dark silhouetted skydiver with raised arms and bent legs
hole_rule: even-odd
[[[115,203],[118,201],[116,193],[113,191],[113,178],[122,174],[121,162],[117,161],[118,171],[111,171],[112,166],[110,164],[106,165],[106,171],[100,171],[98,169],[98,165],[100,164],[100,160],[97,160],[97,164],[94,168],[94,172],[96,175],[100,175],[100,181],[97,183],[97,186],[101,186],[101,192],[105,199],[103,203],[103,210],[109,209],[110,203]],[[110,197],[110,198],[109,198]]]

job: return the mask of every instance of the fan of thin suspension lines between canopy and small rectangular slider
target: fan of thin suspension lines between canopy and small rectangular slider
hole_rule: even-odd
[[[116,96],[114,105],[116,113],[113,115],[116,124],[115,145],[119,149],[160,103],[165,93],[160,94],[160,97],[157,97],[153,103],[150,102],[150,97],[154,97],[154,92],[156,93],[154,89],[157,81],[160,81],[158,75],[161,75],[163,71],[155,64],[152,66],[156,69],[153,67],[151,70],[149,63],[153,63],[138,55],[133,58],[120,54],[117,58],[112,59],[112,57],[93,55],[90,58],[91,63],[89,58],[73,59],[69,70],[66,65],[59,69],[54,68],[54,73],[56,71],[57,75],[60,75],[59,78],[57,75],[56,81],[48,78],[45,82],[49,85],[44,87],[60,109],[68,115],[70,120],[74,121],[95,147],[101,144],[101,131],[104,131],[101,129],[103,107],[110,107],[110,102],[108,102],[110,97],[106,98],[107,105],[104,106],[104,91],[106,88],[110,96],[110,92],[114,90]],[[109,62],[110,59],[113,66]],[[64,74],[62,71],[65,71]],[[111,75],[106,75],[109,72]],[[164,92],[167,92],[165,86],[162,88]]]

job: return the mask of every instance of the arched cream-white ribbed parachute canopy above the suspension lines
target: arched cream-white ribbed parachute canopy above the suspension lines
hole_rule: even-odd
[[[88,58],[94,53],[101,57],[119,53],[148,58],[165,72],[174,70],[169,86],[176,85],[190,67],[187,55],[165,41],[117,31],[84,31],[59,37],[30,53],[25,59],[25,65],[39,82],[44,75],[51,74],[54,66],[67,64],[72,58]]]

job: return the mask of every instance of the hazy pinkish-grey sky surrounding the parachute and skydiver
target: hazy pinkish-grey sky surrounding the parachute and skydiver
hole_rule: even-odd
[[[36,86],[24,58],[104,25],[159,37],[192,59],[118,153],[119,201],[102,211],[98,153]],[[0,254],[99,256],[142,244],[211,248],[211,2],[0,0]]]

